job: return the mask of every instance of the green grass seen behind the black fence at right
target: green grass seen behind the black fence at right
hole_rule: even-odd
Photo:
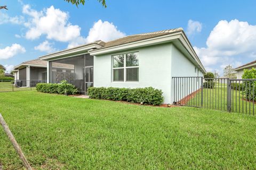
[[[202,91],[187,101],[189,106],[201,106]],[[231,90],[231,111],[253,115],[256,104],[246,101],[242,91]],[[203,108],[227,111],[227,84],[216,84],[213,89],[203,89]]]

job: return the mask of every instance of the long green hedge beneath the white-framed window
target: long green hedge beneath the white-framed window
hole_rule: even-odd
[[[164,101],[162,90],[148,88],[114,88],[114,87],[90,87],[88,95],[93,99],[106,99],[116,101],[129,101],[131,103],[143,103],[148,105],[161,105]]]

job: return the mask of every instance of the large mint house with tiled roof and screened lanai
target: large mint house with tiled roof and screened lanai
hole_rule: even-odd
[[[86,93],[89,87],[154,87],[172,103],[172,77],[202,77],[204,66],[182,28],[142,33],[109,42],[94,41],[39,57],[47,61],[47,82],[63,79]],[[56,64],[72,65],[59,75]]]

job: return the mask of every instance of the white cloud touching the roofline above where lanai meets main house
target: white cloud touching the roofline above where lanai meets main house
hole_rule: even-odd
[[[99,20],[93,24],[93,27],[90,29],[89,34],[86,38],[78,37],[74,41],[71,41],[68,48],[75,47],[77,45],[92,43],[93,41],[102,40],[110,41],[125,36],[124,32],[121,32],[117,27],[108,21],[102,22]]]

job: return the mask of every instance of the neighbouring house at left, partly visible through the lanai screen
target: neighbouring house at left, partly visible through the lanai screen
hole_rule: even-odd
[[[74,67],[69,64],[55,64],[53,65],[55,70],[60,72],[73,72]],[[17,66],[14,66],[14,80],[18,87],[30,87],[35,86],[37,82],[47,81],[47,62],[40,60],[30,60],[23,62]],[[65,79],[63,74],[60,79]]]

